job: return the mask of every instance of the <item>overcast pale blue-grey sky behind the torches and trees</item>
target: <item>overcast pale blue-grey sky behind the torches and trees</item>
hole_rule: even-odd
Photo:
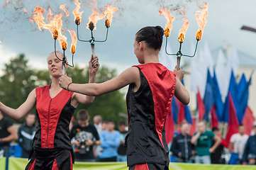
[[[82,2],[82,23],[79,26],[79,35],[82,39],[89,39],[90,32],[87,30],[86,23],[91,15],[88,1]],[[110,4],[113,1],[99,1],[99,8]],[[208,0],[207,24],[204,30],[202,40],[199,42],[199,48],[204,47],[207,42],[210,49],[214,50],[228,42],[238,50],[248,53],[255,57],[256,33],[240,30],[241,26],[251,26],[256,28],[256,1],[223,1]],[[4,6],[5,0],[0,1],[0,69],[4,68],[4,63],[18,53],[25,53],[30,61],[30,65],[35,68],[46,69],[46,57],[54,50],[54,40],[48,30],[41,32],[35,24],[30,23],[28,18],[32,16],[35,6],[42,6],[47,9],[52,8],[54,14],[63,13],[59,9],[62,4],[67,4],[69,17],[63,16],[63,28],[76,29],[72,11],[75,8],[74,0],[64,1],[29,1],[29,0],[9,0],[9,4]],[[200,3],[199,3],[200,4]],[[200,4],[202,6],[202,4]],[[4,6],[4,7],[3,7]],[[106,42],[96,43],[96,55],[99,56],[101,65],[115,68],[118,72],[123,71],[133,64],[138,64],[133,53],[133,40],[137,31],[144,26],[162,26],[165,28],[166,19],[160,16],[158,10],[165,6],[169,9],[177,8],[179,11],[183,6],[187,10],[189,28],[184,40],[183,51],[190,51],[191,42],[196,42],[196,31],[198,29],[194,13],[199,9],[193,0],[121,0],[113,6],[120,8],[114,13],[113,22],[109,28],[108,40]],[[28,9],[29,15],[23,11],[23,7]],[[46,14],[48,10],[46,10]],[[175,20],[173,22],[172,33],[169,36],[169,45],[172,51],[177,52],[177,36],[182,27],[182,15],[173,12]],[[94,31],[95,38],[103,40],[105,38],[106,28],[104,21],[97,23],[97,29]],[[67,56],[71,62],[69,52],[71,38],[69,33],[64,35],[68,39]],[[165,39],[164,39],[165,40]],[[165,41],[164,41],[165,42]],[[57,45],[60,50],[60,45]],[[74,55],[74,63],[85,65],[89,61],[91,47],[89,43],[77,42],[77,52]]]

